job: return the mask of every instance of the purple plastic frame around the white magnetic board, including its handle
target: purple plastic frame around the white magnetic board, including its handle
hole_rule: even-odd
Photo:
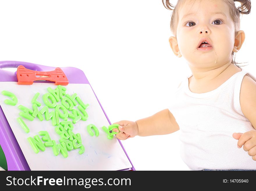
[[[52,71],[52,70],[55,70],[56,68],[56,67],[44,66],[39,64],[27,63],[27,62],[20,62],[20,61],[0,61],[0,81],[1,82],[17,82],[17,74],[16,74],[17,71],[10,72],[10,71],[4,70],[3,68],[17,68],[19,65],[23,65],[27,69],[31,69],[35,71],[43,71],[43,72]],[[63,70],[64,74],[67,76],[69,83],[87,83],[90,85],[89,81],[87,80],[82,70],[75,67],[61,67],[61,69]],[[34,83],[42,83],[42,81],[35,81]],[[54,82],[45,81],[44,83],[54,83]],[[93,93],[97,98],[94,91]],[[99,102],[98,98],[97,100]],[[99,102],[99,105],[102,108],[102,105],[100,104],[100,102]],[[109,124],[111,124],[103,108],[102,110],[106,118],[108,119]],[[131,163],[131,160],[127,155],[121,141],[119,139],[118,141]],[[30,170],[29,165],[19,147],[19,144],[13,134],[12,129],[10,128],[10,125],[3,113],[1,106],[0,106],[0,145],[6,157],[8,170]],[[123,169],[123,170],[135,170],[132,163],[131,165],[132,165],[132,168]]]

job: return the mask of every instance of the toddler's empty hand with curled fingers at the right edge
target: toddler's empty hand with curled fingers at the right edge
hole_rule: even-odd
[[[256,130],[247,131],[245,133],[233,133],[233,138],[237,139],[237,147],[248,151],[248,155],[256,160]]]

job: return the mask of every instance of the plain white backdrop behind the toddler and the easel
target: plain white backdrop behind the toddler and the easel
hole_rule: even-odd
[[[253,6],[251,12],[241,19],[246,39],[236,61],[248,62],[243,68],[256,76]],[[0,1],[0,60],[77,67],[111,123],[135,121],[168,108],[190,74],[168,43],[171,13],[161,0]],[[180,157],[179,131],[122,144],[136,170],[189,170]]]

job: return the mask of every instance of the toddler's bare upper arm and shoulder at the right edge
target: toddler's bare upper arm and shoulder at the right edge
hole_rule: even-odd
[[[245,75],[240,90],[240,105],[243,115],[250,121],[256,115],[256,82]]]

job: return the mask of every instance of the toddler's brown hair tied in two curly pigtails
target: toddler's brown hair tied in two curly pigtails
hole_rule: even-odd
[[[234,20],[234,31],[235,34],[240,30],[240,14],[249,14],[251,11],[251,1],[250,0],[223,0],[227,3],[227,5],[230,8],[231,16]],[[180,6],[183,5],[183,0],[177,0],[176,6],[170,3],[170,0],[162,0],[163,6],[168,10],[173,10],[172,16],[171,16],[171,22],[170,22],[170,28],[173,33],[173,35],[176,37],[176,30],[177,30],[177,22],[179,20],[178,15],[178,9]],[[241,3],[241,6],[236,7],[235,2]],[[233,60],[234,57],[234,60]],[[232,61],[231,63],[236,65],[242,63],[235,62],[235,52],[232,51]],[[240,68],[240,67],[239,67]]]

